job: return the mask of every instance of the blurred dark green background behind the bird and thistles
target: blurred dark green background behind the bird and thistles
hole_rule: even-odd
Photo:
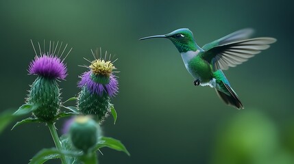
[[[103,148],[100,163],[294,163],[293,16],[292,1],[2,0],[0,111],[22,105],[36,78],[27,75],[30,39],[73,47],[69,76],[60,82],[64,100],[79,92],[78,75],[86,69],[77,65],[88,64],[83,57],[93,59],[90,49],[101,46],[117,54],[121,71],[112,100],[119,118],[116,125],[108,118],[103,133],[120,139],[131,156]],[[245,109],[226,106],[209,87],[195,87],[169,40],[138,41],[181,27],[193,31],[199,46],[245,27],[278,39],[225,71]],[[54,146],[43,124],[11,126],[0,136],[1,163],[28,163]]]

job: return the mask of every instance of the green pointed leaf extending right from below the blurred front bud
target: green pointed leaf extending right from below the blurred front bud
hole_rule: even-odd
[[[94,150],[97,151],[99,148],[108,147],[117,151],[125,152],[128,156],[130,156],[130,152],[127,151],[123,143],[121,141],[111,138],[111,137],[99,137],[99,141],[96,144]]]

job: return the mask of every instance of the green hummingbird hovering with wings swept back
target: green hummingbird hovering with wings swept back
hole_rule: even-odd
[[[268,49],[275,38],[261,37],[249,38],[253,29],[241,29],[230,33],[223,38],[200,47],[190,29],[176,29],[171,33],[158,36],[148,36],[139,40],[150,38],[167,38],[173,42],[180,52],[186,70],[194,78],[194,85],[210,86],[215,88],[217,95],[227,105],[244,109],[242,102],[231,87],[223,70],[242,64],[250,57]]]

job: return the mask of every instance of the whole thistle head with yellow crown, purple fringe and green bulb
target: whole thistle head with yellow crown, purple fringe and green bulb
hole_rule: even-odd
[[[93,51],[92,51],[93,53]],[[101,49],[100,49],[101,54]],[[107,54],[107,51],[106,51]],[[114,61],[110,61],[111,55],[106,60],[105,57],[95,57],[94,61],[89,61],[90,66],[87,72],[84,72],[80,78],[81,80],[77,84],[82,88],[77,98],[77,107],[84,115],[93,115],[97,122],[102,122],[110,113],[110,98],[117,94],[119,90],[119,83],[114,72],[117,68],[113,65]]]

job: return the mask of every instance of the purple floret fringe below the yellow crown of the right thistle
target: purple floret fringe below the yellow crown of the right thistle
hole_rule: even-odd
[[[78,87],[84,87],[84,85],[86,85],[86,87],[92,94],[96,93],[99,96],[102,96],[103,92],[106,92],[110,97],[117,94],[119,90],[119,83],[114,74],[110,74],[109,83],[106,84],[93,81],[93,79],[91,78],[91,74],[91,71],[84,72],[81,76],[81,81],[79,81],[78,83]]]

